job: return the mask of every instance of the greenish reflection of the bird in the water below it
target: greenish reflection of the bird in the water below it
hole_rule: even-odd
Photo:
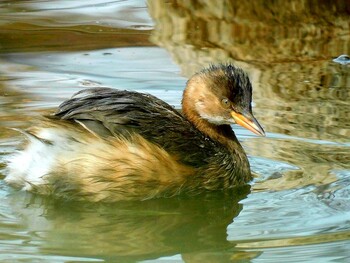
[[[45,254],[61,251],[64,256],[113,262],[181,254],[185,262],[233,262],[257,256],[235,249],[227,240],[227,226],[249,193],[246,185],[226,192],[108,205],[52,201],[28,193],[23,202],[18,192],[11,199]]]

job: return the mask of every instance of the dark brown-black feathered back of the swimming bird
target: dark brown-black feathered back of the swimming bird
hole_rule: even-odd
[[[139,92],[83,90],[62,103],[55,116],[74,120],[102,138],[138,134],[194,167],[205,165],[218,147],[172,106]]]

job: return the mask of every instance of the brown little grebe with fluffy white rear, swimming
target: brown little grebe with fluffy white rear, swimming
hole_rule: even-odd
[[[23,133],[5,180],[65,199],[118,201],[195,194],[251,180],[230,124],[265,135],[252,114],[252,86],[233,65],[192,76],[182,114],[149,95],[86,89]]]

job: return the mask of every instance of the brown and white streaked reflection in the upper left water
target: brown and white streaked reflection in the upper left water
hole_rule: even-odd
[[[0,52],[154,46],[146,8],[140,1],[2,1]]]

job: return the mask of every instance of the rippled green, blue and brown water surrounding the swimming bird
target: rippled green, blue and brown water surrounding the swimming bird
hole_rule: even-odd
[[[346,1],[214,2],[2,1],[0,261],[350,261],[350,68],[333,61],[350,53]],[[187,77],[217,61],[249,72],[267,131],[234,127],[251,189],[96,205],[1,180],[23,139],[8,128],[93,86],[180,107]]]

